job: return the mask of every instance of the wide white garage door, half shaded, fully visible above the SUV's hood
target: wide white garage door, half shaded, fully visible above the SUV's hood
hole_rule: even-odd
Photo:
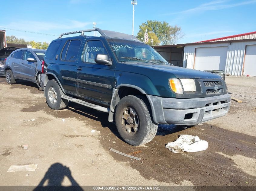
[[[225,70],[228,46],[196,48],[194,69]]]

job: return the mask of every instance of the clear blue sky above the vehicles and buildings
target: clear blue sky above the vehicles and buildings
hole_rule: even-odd
[[[92,28],[93,22],[101,29],[132,33],[130,0],[13,0],[2,1],[1,7],[0,29],[35,32],[4,29],[28,41],[50,43],[60,33]],[[184,37],[178,43],[247,33],[256,31],[255,11],[256,0],[138,0],[134,33],[147,20],[180,26]]]

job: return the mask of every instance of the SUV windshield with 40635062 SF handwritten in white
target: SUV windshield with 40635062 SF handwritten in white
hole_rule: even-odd
[[[147,44],[121,39],[108,39],[108,42],[120,62],[147,62],[172,65]]]

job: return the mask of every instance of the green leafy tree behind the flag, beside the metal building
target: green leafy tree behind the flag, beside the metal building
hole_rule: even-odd
[[[146,23],[142,23],[139,28],[138,38],[143,38],[146,28],[148,28],[148,33],[155,33],[163,45],[175,44],[184,36],[181,27],[178,27],[177,25],[171,26],[165,21],[148,20]]]

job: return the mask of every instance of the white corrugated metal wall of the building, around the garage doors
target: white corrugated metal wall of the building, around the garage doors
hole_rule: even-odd
[[[225,73],[230,75],[242,75],[244,51],[245,45],[256,44],[256,41],[245,42],[231,42],[229,43],[215,43],[215,44],[196,44],[186,45],[184,48],[184,61],[183,67],[186,67],[187,63],[194,63],[195,48],[201,47],[216,47],[216,46],[228,46],[227,60]],[[188,56],[191,55],[191,56]]]

